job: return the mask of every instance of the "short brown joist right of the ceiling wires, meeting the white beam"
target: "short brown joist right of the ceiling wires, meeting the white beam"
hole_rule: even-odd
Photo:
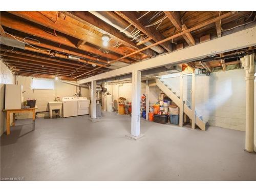
[[[178,32],[182,32],[182,24],[180,19],[180,14],[178,11],[164,11],[165,15],[168,17],[170,22],[174,25],[174,27],[177,29]],[[182,35],[182,37],[185,39],[187,44],[189,46],[193,45],[193,42],[191,42],[186,35]]]

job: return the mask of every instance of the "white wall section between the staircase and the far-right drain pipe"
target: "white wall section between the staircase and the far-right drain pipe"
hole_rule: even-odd
[[[245,131],[245,71],[196,77],[196,110],[210,125]]]

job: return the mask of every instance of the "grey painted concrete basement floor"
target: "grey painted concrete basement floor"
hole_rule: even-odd
[[[191,130],[141,120],[138,141],[130,116],[18,120],[1,137],[1,177],[25,180],[256,180],[256,155],[244,152],[245,133]],[[23,124],[23,125],[22,125]],[[26,125],[24,125],[26,124]]]

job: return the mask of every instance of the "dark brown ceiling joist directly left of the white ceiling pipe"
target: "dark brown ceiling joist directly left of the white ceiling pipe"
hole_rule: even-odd
[[[101,32],[102,34],[110,35],[111,37],[122,42],[122,44],[125,46],[129,46],[135,50],[138,50],[136,44],[133,41],[131,41],[131,39],[124,36],[122,33],[119,33],[119,31],[116,28],[109,25],[108,23],[105,23],[103,20],[99,19],[98,17],[96,17],[88,11],[63,11],[63,13]]]

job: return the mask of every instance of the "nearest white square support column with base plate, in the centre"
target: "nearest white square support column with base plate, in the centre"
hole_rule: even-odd
[[[131,135],[126,137],[132,139],[140,139],[143,134],[140,134],[140,89],[141,89],[141,72],[133,71],[133,89],[132,89],[132,123]]]

